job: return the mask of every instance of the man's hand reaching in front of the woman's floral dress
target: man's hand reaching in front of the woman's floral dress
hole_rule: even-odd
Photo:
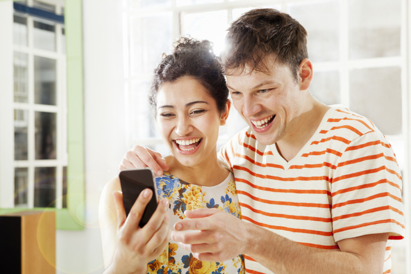
[[[223,262],[243,254],[247,243],[240,219],[218,209],[186,210],[188,219],[174,225],[172,239],[200,261]],[[184,230],[200,230],[184,232]]]

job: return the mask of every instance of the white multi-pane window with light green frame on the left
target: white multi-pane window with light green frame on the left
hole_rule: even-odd
[[[81,2],[67,3],[66,16],[64,7],[0,2],[0,213],[45,208],[57,211],[57,228],[82,229]]]

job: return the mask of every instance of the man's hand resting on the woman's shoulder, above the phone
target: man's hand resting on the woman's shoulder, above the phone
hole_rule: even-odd
[[[123,170],[143,167],[150,167],[159,176],[163,174],[163,170],[169,169],[160,153],[142,146],[135,146],[132,150],[128,150],[119,168]]]

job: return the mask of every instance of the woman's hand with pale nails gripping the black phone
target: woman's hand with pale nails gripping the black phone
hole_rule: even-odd
[[[156,259],[165,250],[170,239],[170,220],[166,215],[169,202],[160,201],[150,221],[143,227],[138,226],[144,209],[153,192],[142,191],[125,216],[123,195],[114,191],[113,196],[117,208],[118,243],[113,263],[106,269],[109,273],[147,273],[147,263]]]

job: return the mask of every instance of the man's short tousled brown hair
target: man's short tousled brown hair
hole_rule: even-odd
[[[227,70],[268,72],[267,57],[289,67],[298,82],[298,67],[308,58],[307,31],[287,13],[253,9],[242,14],[228,29],[227,49],[221,64]]]

